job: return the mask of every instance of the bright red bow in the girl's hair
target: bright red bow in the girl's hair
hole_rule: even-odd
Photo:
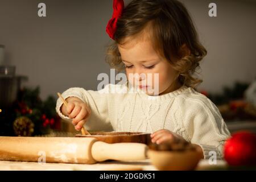
[[[125,4],[123,3],[123,0],[113,1],[113,15],[112,18],[109,20],[108,25],[106,26],[106,32],[113,40],[115,31],[117,30],[117,20],[121,17],[124,6]]]

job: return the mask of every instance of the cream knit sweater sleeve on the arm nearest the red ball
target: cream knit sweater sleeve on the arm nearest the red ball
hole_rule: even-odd
[[[222,159],[223,146],[230,133],[218,108],[206,97],[202,100],[187,98],[183,112],[190,142],[201,146],[205,159],[215,154],[217,159]]]

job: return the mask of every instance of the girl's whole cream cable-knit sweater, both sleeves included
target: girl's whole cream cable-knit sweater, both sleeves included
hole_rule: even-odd
[[[187,86],[161,96],[148,96],[126,84],[109,84],[99,91],[70,88],[62,95],[65,99],[78,97],[88,104],[92,110],[85,123],[88,130],[153,133],[167,129],[199,144],[205,159],[213,154],[221,159],[222,147],[230,136],[217,107]],[[62,104],[58,99],[57,113],[71,121],[61,113]]]

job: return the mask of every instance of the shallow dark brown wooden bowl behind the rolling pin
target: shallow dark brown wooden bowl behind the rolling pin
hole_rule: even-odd
[[[144,143],[150,144],[151,138],[150,133],[140,133],[140,132],[103,132],[95,131],[90,132],[91,135],[81,135],[78,134],[76,137],[94,137],[99,141],[106,143],[122,143],[122,142],[132,142],[132,143]]]

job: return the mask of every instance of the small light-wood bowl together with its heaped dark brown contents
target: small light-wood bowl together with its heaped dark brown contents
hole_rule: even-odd
[[[195,145],[188,142],[164,142],[150,144],[148,157],[161,171],[187,171],[197,167],[201,154]]]

